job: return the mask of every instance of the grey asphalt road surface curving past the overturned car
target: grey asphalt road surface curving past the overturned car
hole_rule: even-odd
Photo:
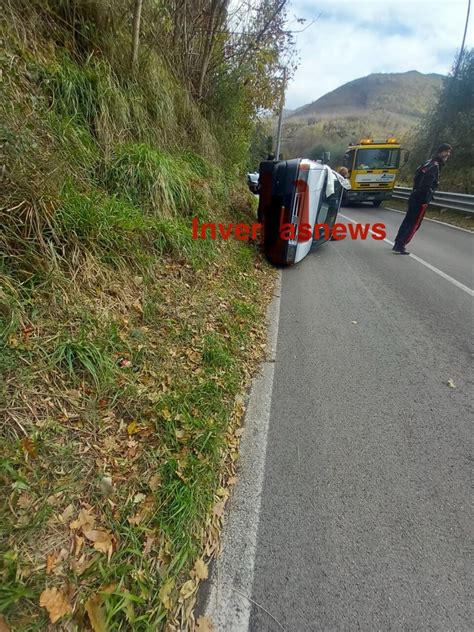
[[[392,240],[402,219],[342,213]],[[473,239],[424,222],[410,249],[472,288]],[[472,324],[469,294],[385,242],[284,270],[249,630],[474,629]]]

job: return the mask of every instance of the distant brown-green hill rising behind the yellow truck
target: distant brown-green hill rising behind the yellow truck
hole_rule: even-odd
[[[404,138],[436,99],[442,80],[410,71],[350,81],[285,117],[283,151],[317,158],[324,148],[339,160],[347,143],[361,136]]]

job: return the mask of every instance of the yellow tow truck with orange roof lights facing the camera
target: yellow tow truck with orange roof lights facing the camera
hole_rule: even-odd
[[[349,145],[343,164],[349,170],[351,189],[344,192],[344,201],[372,202],[377,207],[383,200],[389,200],[400,170],[402,151],[392,136],[383,140],[362,138]],[[405,162],[407,159],[408,154]]]

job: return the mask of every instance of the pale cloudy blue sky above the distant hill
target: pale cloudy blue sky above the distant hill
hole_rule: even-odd
[[[374,72],[447,74],[461,47],[467,5],[467,0],[291,0],[288,27],[299,67],[285,107],[301,107]],[[306,22],[298,24],[295,17]],[[473,23],[474,3],[467,47],[474,46]]]

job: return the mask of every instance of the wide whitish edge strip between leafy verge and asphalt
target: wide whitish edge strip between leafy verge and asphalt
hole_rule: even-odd
[[[251,591],[267,454],[268,428],[280,320],[281,272],[267,314],[268,341],[261,373],[252,382],[240,445],[238,480],[222,531],[222,552],[205,608],[219,632],[248,632]],[[241,591],[241,592],[239,592]],[[249,597],[245,597],[245,594]]]

